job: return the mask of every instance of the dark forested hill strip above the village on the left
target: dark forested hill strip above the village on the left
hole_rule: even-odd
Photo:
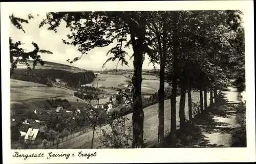
[[[86,78],[84,78],[84,74],[86,74]],[[11,75],[12,79],[23,80],[23,81],[31,81],[33,83],[44,84],[51,86],[51,81],[56,81],[58,78],[62,82],[67,83],[69,87],[77,87],[82,84],[91,83],[95,75],[92,71],[84,71],[84,72],[70,72],[59,69],[15,69],[13,74]]]

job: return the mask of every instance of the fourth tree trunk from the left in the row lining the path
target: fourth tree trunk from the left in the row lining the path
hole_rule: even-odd
[[[181,84],[180,89],[180,110],[179,110],[179,116],[180,116],[180,129],[184,129],[185,125],[185,101],[186,101],[186,87],[184,84],[184,81],[182,81],[183,84]]]

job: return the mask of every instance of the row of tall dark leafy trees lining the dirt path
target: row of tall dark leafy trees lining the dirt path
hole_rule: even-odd
[[[172,146],[175,147],[176,97],[180,88],[180,125],[185,125],[185,94],[191,108],[191,91],[200,92],[207,104],[207,91],[217,93],[234,78],[230,72],[244,72],[244,29],[240,11],[136,11],[136,12],[50,12],[39,27],[57,32],[60,21],[73,33],[63,43],[78,46],[82,54],[95,47],[117,44],[110,49],[114,57],[126,64],[124,50],[133,48],[132,77],[133,148],[143,147],[144,113],[142,110],[142,64],[148,54],[153,64],[160,65],[158,147],[164,142],[164,82],[172,86],[170,95]],[[73,63],[81,59],[76,57]],[[238,60],[239,59],[239,60]],[[244,77],[243,77],[243,80]],[[189,111],[191,111],[189,109]],[[191,113],[191,112],[189,112]],[[191,115],[189,115],[191,119]]]

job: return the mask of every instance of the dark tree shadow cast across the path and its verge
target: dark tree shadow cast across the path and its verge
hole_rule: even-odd
[[[187,122],[183,129],[176,131],[176,147],[194,148],[194,147],[227,147],[224,145],[211,144],[206,136],[214,133],[231,134],[234,129],[227,119],[238,113],[236,106],[239,103],[230,102],[225,99],[225,93],[221,93],[214,106],[207,108],[204,113],[193,118],[193,124]],[[165,148],[172,148],[172,135],[169,133],[165,137]]]

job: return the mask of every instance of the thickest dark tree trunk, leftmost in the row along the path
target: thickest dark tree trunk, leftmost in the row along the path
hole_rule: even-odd
[[[138,30],[137,24],[131,20],[130,22],[130,33],[131,41],[134,51],[134,74],[133,74],[133,144],[132,148],[143,147],[143,123],[144,123],[144,112],[142,109],[141,99],[141,82],[142,82],[142,64],[143,64],[143,53],[144,53],[144,42],[146,33],[146,17],[145,13],[141,14],[139,20]],[[138,39],[135,40],[135,37]]]

